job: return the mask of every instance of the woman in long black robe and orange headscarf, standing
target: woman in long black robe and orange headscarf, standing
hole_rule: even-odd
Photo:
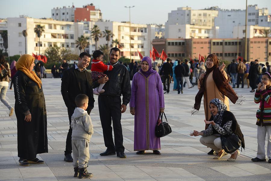
[[[31,55],[22,55],[16,62],[13,79],[18,157],[22,166],[43,164],[36,155],[48,153],[45,99],[42,82],[33,71],[34,60]]]

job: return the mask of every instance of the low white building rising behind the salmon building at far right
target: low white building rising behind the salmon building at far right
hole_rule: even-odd
[[[246,26],[233,27],[233,38],[245,38],[245,28]],[[247,38],[263,37],[261,31],[264,29],[269,30],[270,27],[247,26]]]

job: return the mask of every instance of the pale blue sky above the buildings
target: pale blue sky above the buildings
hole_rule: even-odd
[[[93,3],[101,9],[104,20],[129,21],[128,8],[131,8],[132,23],[165,23],[168,13],[178,7],[191,7],[192,9],[204,9],[211,6],[219,6],[223,9],[245,9],[245,0],[1,0],[0,18],[19,17],[27,15],[33,18],[51,17],[51,9],[54,7],[72,6],[81,8],[83,5]],[[271,0],[248,0],[248,5],[257,4],[259,8],[268,8],[271,14]]]

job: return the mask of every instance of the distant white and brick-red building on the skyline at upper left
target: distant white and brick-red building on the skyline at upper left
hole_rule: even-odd
[[[75,8],[73,6],[63,6],[63,8],[53,8],[51,10],[51,17],[54,20],[60,21],[101,21],[101,10],[96,9],[93,4],[84,5],[83,8]]]

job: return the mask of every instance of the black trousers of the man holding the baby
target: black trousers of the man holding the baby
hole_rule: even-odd
[[[120,96],[99,95],[98,104],[105,146],[110,151],[124,152],[122,127],[120,123]],[[115,145],[112,136],[112,122]]]

